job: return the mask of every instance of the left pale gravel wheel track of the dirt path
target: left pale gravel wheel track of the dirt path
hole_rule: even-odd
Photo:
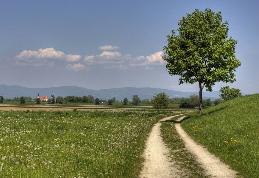
[[[159,121],[170,120],[176,116],[179,115],[165,117]],[[141,178],[178,177],[176,175],[177,168],[173,169],[173,162],[167,158],[166,153],[169,153],[169,150],[166,148],[162,136],[160,136],[160,125],[161,123],[155,124],[146,142],[146,149],[143,154],[145,161],[140,174]]]

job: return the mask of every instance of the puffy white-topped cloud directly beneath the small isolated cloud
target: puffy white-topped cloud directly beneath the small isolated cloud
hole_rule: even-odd
[[[104,63],[123,63],[125,59],[125,56],[123,56],[121,53],[115,51],[103,51],[99,55],[86,55],[84,62],[88,64],[104,64]]]

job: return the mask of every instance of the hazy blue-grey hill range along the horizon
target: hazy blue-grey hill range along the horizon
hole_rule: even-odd
[[[46,95],[48,98],[51,95],[56,96],[88,96],[93,95],[94,98],[105,99],[108,100],[110,98],[115,97],[116,100],[123,100],[124,98],[128,98],[128,100],[132,99],[132,95],[138,95],[141,100],[148,98],[151,99],[156,93],[165,92],[170,96],[170,98],[174,97],[185,97],[188,98],[192,94],[199,95],[199,92],[181,92],[174,90],[166,90],[161,88],[134,88],[134,87],[125,87],[125,88],[111,88],[111,89],[102,89],[102,90],[91,90],[82,87],[51,87],[51,88],[26,88],[21,86],[8,86],[8,85],[0,85],[0,95],[4,96],[4,98],[14,98],[20,96],[31,96],[32,98],[36,98],[38,93],[40,96]],[[219,91],[213,92],[203,92],[203,98],[210,98],[211,100],[220,98]]]

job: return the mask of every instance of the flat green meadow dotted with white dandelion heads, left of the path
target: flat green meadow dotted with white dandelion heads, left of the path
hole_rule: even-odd
[[[0,177],[138,177],[152,126],[183,112],[0,111]]]

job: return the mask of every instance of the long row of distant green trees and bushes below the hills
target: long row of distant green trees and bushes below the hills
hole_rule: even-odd
[[[231,88],[229,86],[222,87],[220,89],[221,95],[220,97],[222,99],[216,99],[214,101],[210,101],[210,98],[208,99],[203,99],[202,101],[202,108],[207,108],[212,105],[220,104],[224,100],[230,100],[236,97],[241,96],[241,92],[239,89]],[[140,100],[138,95],[133,95],[132,100],[129,101],[127,98],[124,98],[124,100],[120,101],[123,103],[123,105],[127,105],[129,103],[132,103],[134,105],[138,105],[140,103],[143,104],[152,104],[153,108],[155,109],[164,109],[168,106],[168,104],[179,104],[180,108],[196,108],[199,107],[200,100],[199,100],[198,95],[190,95],[189,98],[169,98],[169,96],[166,93],[157,93],[151,101],[149,101],[148,98],[143,99],[142,101]],[[30,96],[21,96],[20,98],[15,97],[13,99],[5,99],[3,96],[0,96],[0,103],[3,103],[4,101],[20,101],[21,104],[24,104],[26,101],[36,101],[36,104],[40,104],[40,98],[35,98],[32,99]],[[70,103],[94,103],[96,105],[99,105],[100,103],[107,103],[107,105],[113,105],[113,103],[118,103],[119,101],[116,101],[116,98],[113,97],[112,99],[109,99],[108,101],[106,100],[100,100],[99,98],[95,98],[92,95],[88,96],[66,96],[66,97],[61,97],[57,96],[55,98],[54,95],[51,95],[51,98],[48,99],[48,104],[67,104],[68,102]]]

